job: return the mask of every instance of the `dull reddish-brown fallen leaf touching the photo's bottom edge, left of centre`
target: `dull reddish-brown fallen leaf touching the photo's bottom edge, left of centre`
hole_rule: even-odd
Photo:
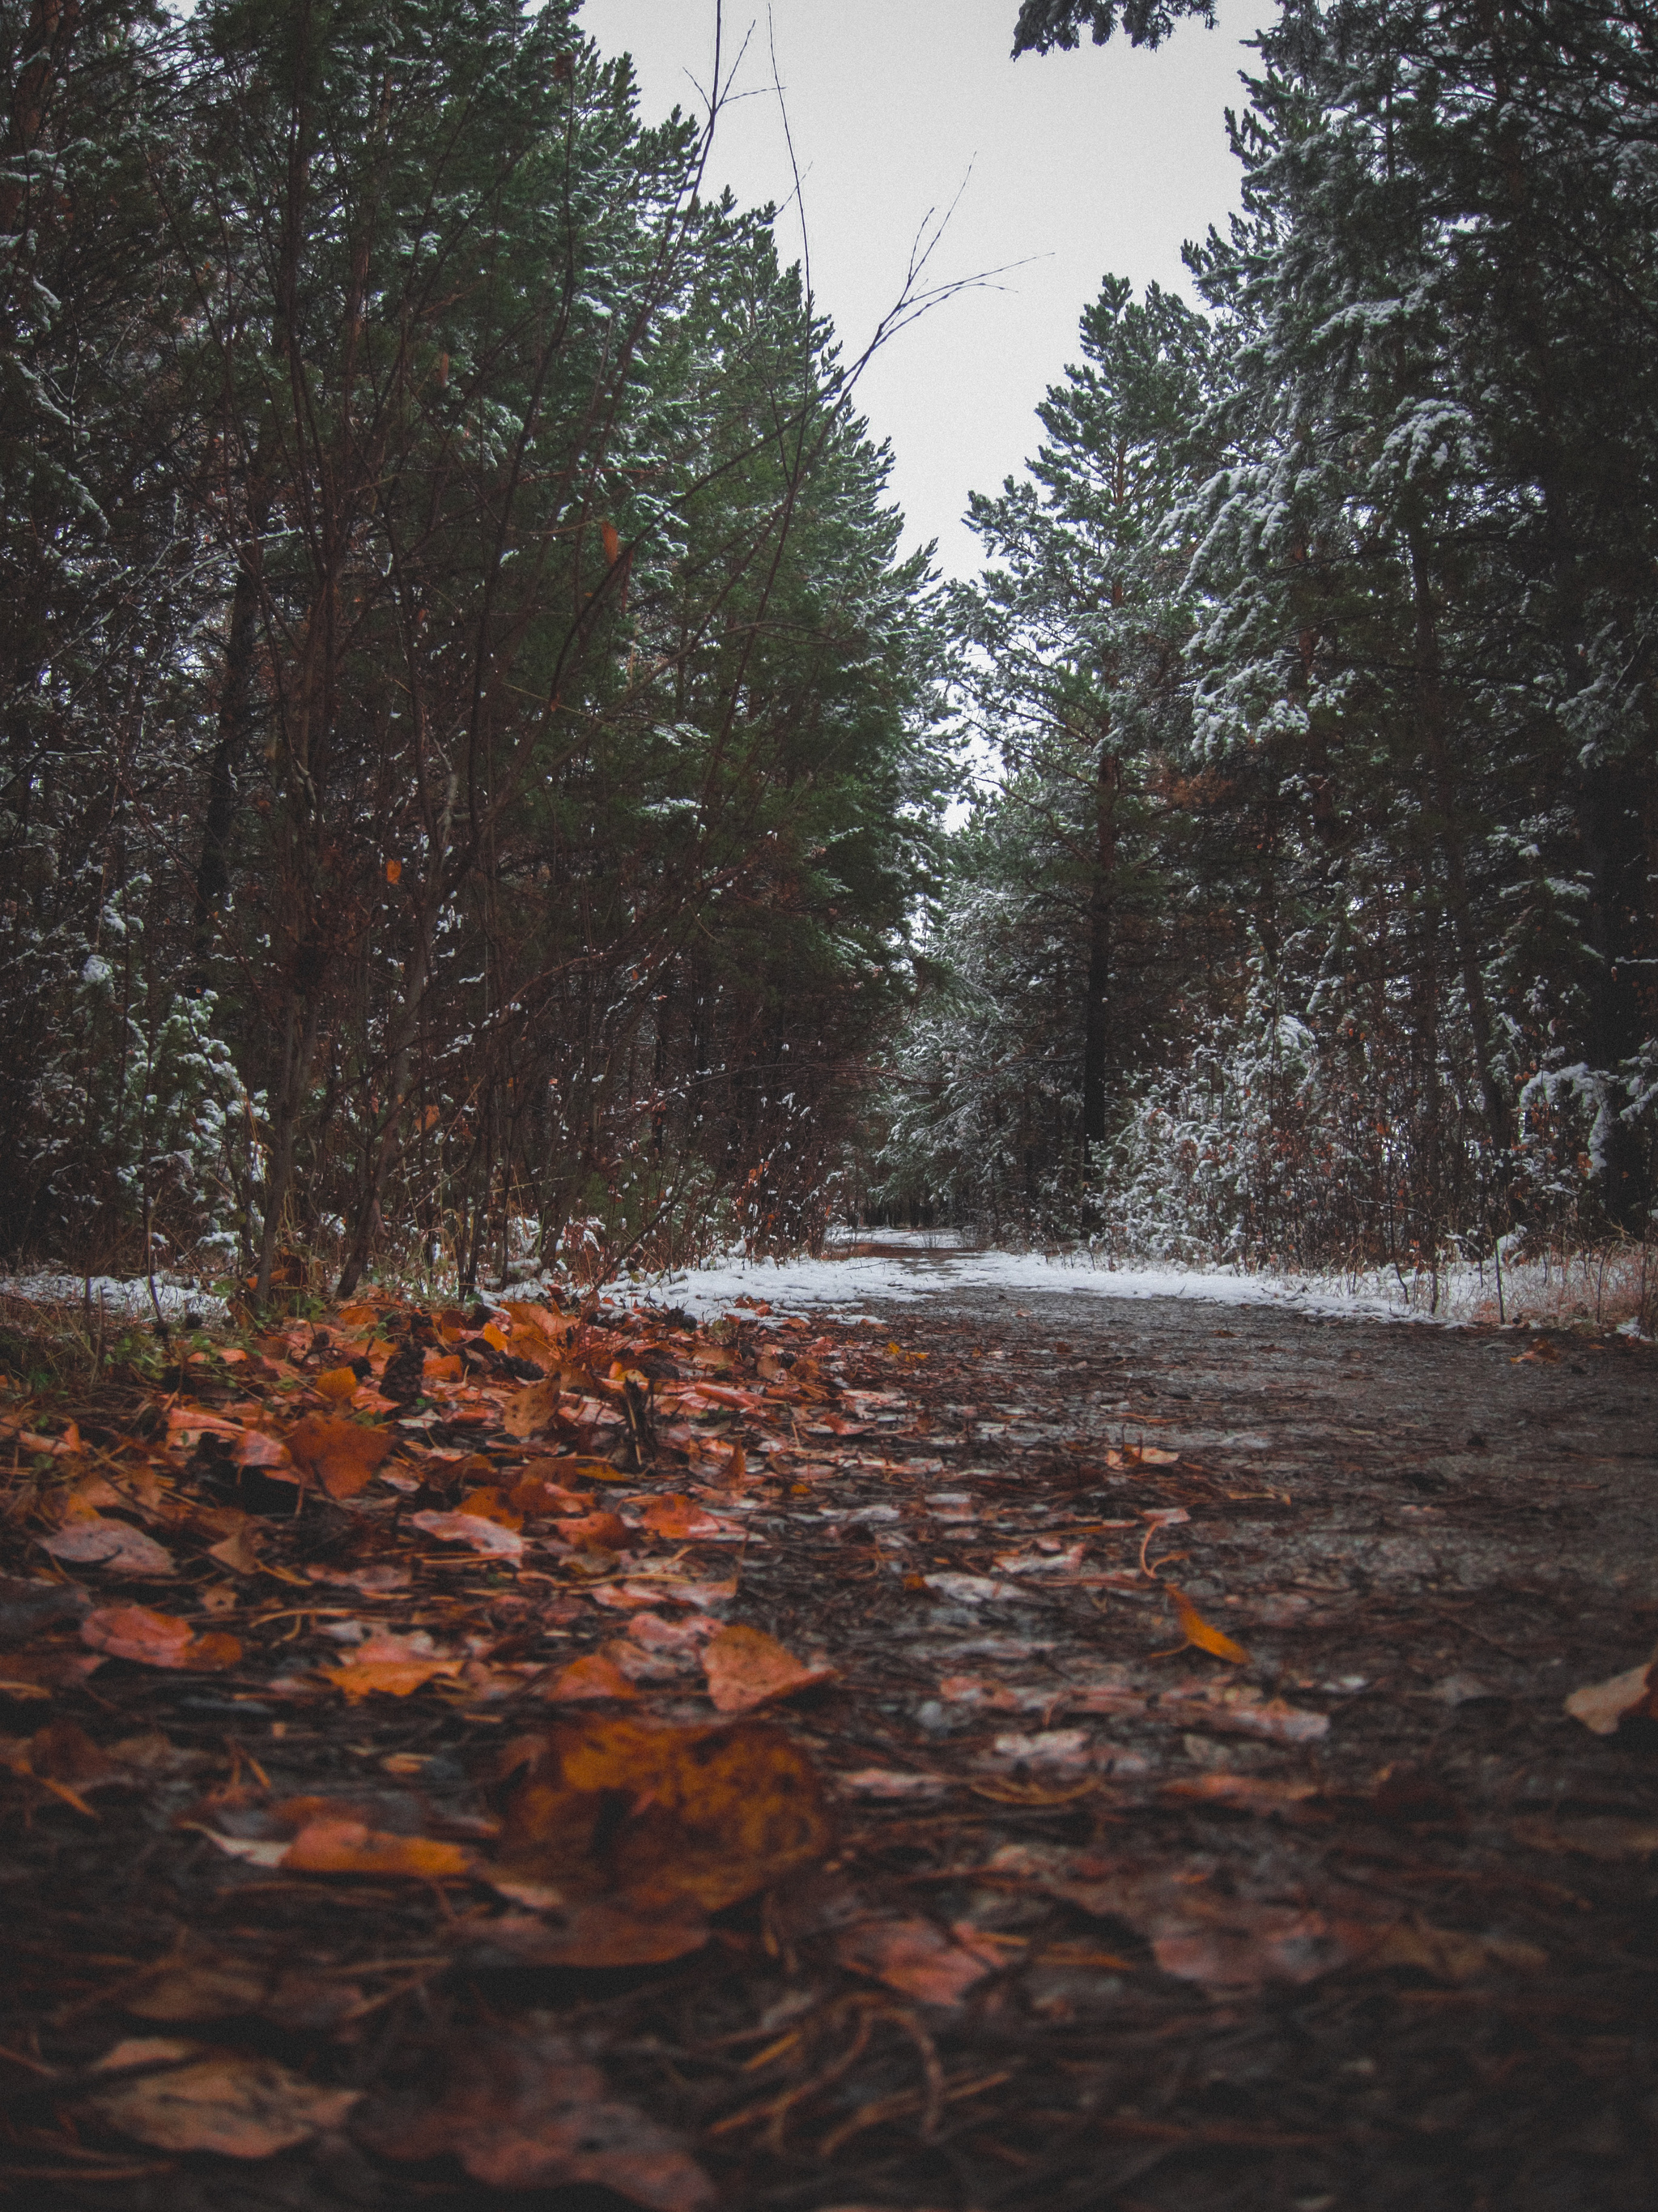
[[[588,2183],[648,2212],[703,2212],[716,2201],[679,2137],[610,2097],[599,2068],[546,2031],[455,2039],[436,2084],[376,2101],[354,2132],[387,2159],[449,2152],[497,2190]]]

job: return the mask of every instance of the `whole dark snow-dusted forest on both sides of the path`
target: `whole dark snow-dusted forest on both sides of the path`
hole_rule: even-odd
[[[1284,0],[973,586],[568,0],[0,66],[0,1250],[1651,1239],[1645,7]]]

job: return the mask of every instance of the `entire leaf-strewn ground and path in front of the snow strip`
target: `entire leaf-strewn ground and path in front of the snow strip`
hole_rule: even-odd
[[[11,2201],[1645,2212],[1651,1349],[688,1318],[13,1387]]]

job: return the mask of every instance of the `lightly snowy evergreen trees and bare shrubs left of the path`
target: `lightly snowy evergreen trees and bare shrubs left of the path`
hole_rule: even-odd
[[[0,0],[13,1250],[820,1232],[940,626],[767,215],[575,13]]]

